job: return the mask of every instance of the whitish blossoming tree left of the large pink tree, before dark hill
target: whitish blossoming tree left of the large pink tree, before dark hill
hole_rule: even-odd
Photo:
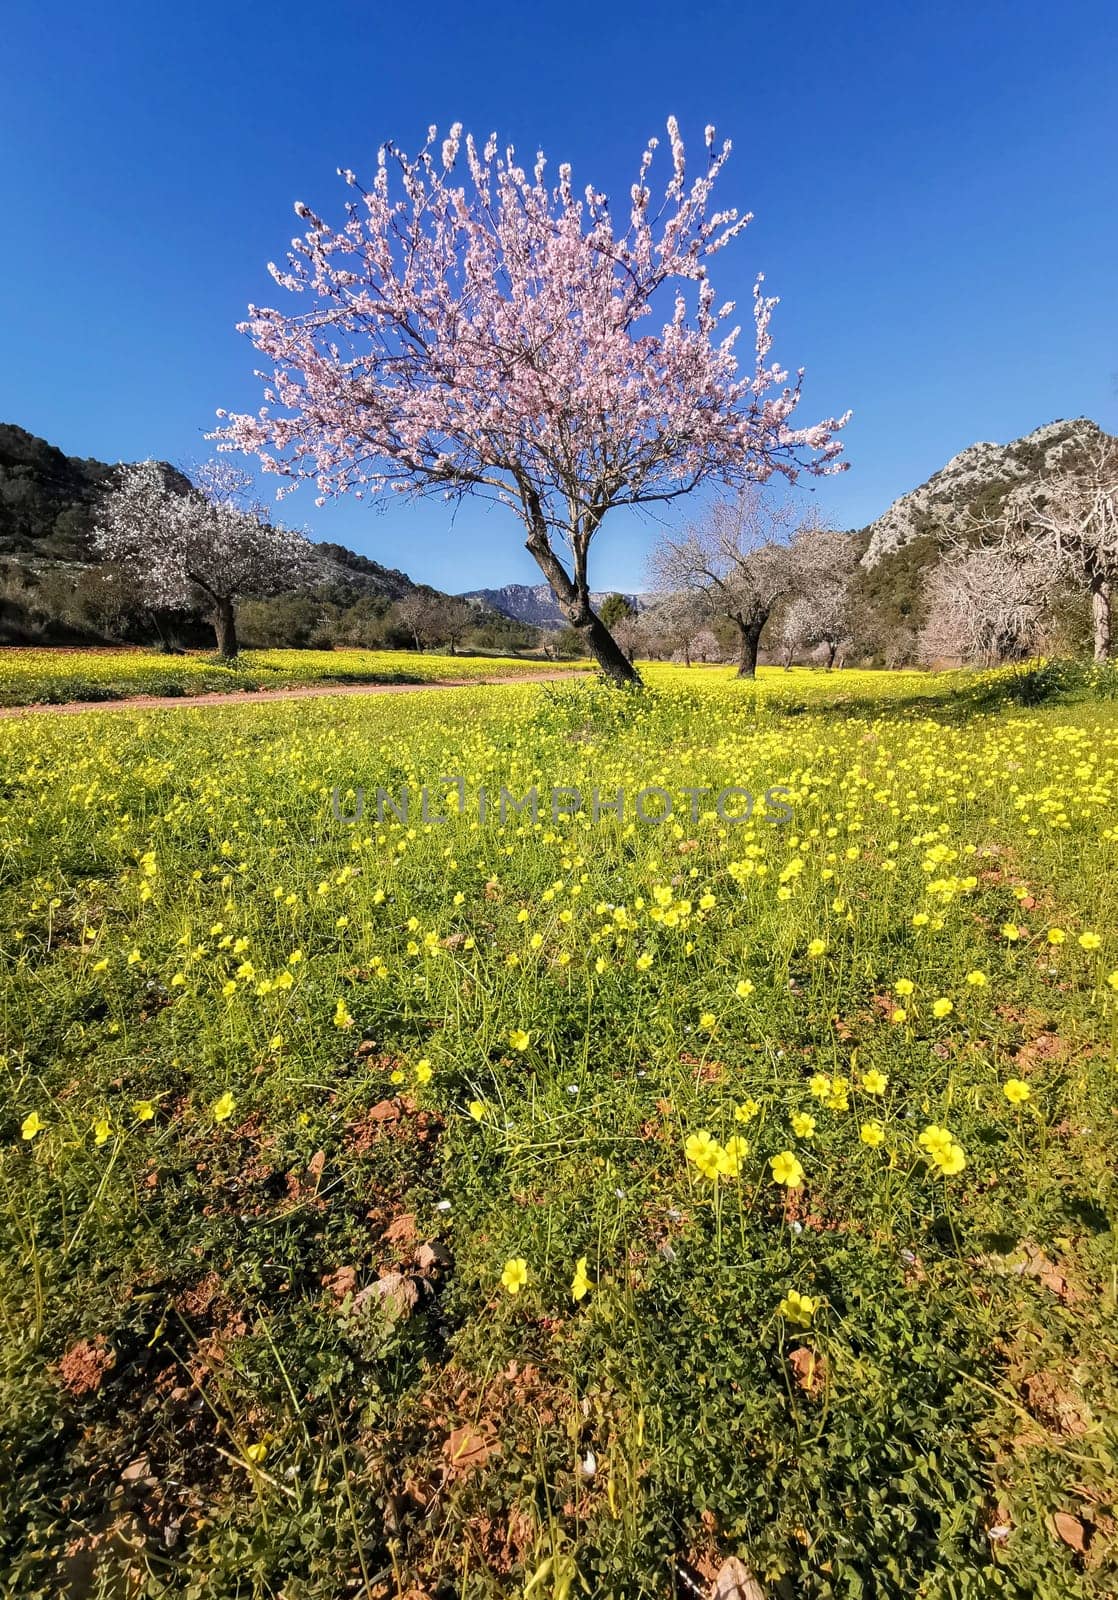
[[[310,547],[248,502],[250,480],[230,462],[197,469],[194,490],[168,488],[155,461],[123,467],[101,501],[94,546],[130,571],[150,606],[203,606],[218,654],[237,654],[237,602],[288,589]]]

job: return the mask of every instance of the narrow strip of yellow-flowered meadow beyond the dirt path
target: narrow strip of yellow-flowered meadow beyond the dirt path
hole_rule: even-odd
[[[547,670],[507,656],[419,656],[409,650],[246,650],[237,662],[146,650],[0,650],[0,706],[126,699],[131,694],[229,694],[310,683],[437,683]],[[571,662],[574,670],[585,662]]]

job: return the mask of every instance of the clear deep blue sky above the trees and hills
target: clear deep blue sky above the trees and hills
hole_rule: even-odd
[[[461,120],[619,190],[670,112],[733,138],[723,198],[757,214],[720,298],[765,270],[801,416],[854,411],[851,470],[813,490],[838,526],[976,438],[1118,430],[1113,0],[70,0],[11,10],[5,56],[0,419],[67,453],[190,459],[218,406],[254,408],[234,325],[278,294],[291,203],[337,216],[336,168],[384,138]],[[499,507],[304,488],[283,514],[440,587],[539,581]],[[614,518],[592,579],[640,587],[656,525]]]

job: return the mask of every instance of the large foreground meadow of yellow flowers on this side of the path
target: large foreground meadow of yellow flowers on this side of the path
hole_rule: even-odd
[[[1118,707],[648,678],[0,725],[13,1594],[1113,1592]]]

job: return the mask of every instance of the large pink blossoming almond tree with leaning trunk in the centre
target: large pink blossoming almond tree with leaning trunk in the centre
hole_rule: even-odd
[[[454,125],[408,157],[385,144],[371,189],[333,227],[272,266],[302,309],[250,307],[242,323],[272,366],[258,416],[219,413],[227,450],[312,478],[320,498],[395,490],[489,496],[512,507],[560,610],[617,683],[637,672],[590,603],[587,558],[608,510],[675,499],[705,480],[837,470],[844,418],[792,427],[801,376],[769,362],[776,301],[753,290],[755,358],[742,373],[733,302],[709,262],[750,218],[713,211],[729,155],[707,128],[688,181],[669,122],[672,174],[653,203],[649,139],[619,226],[605,194],[545,182],[496,136]],[[665,320],[659,331],[651,320]],[[294,486],[294,483],[293,483]]]

